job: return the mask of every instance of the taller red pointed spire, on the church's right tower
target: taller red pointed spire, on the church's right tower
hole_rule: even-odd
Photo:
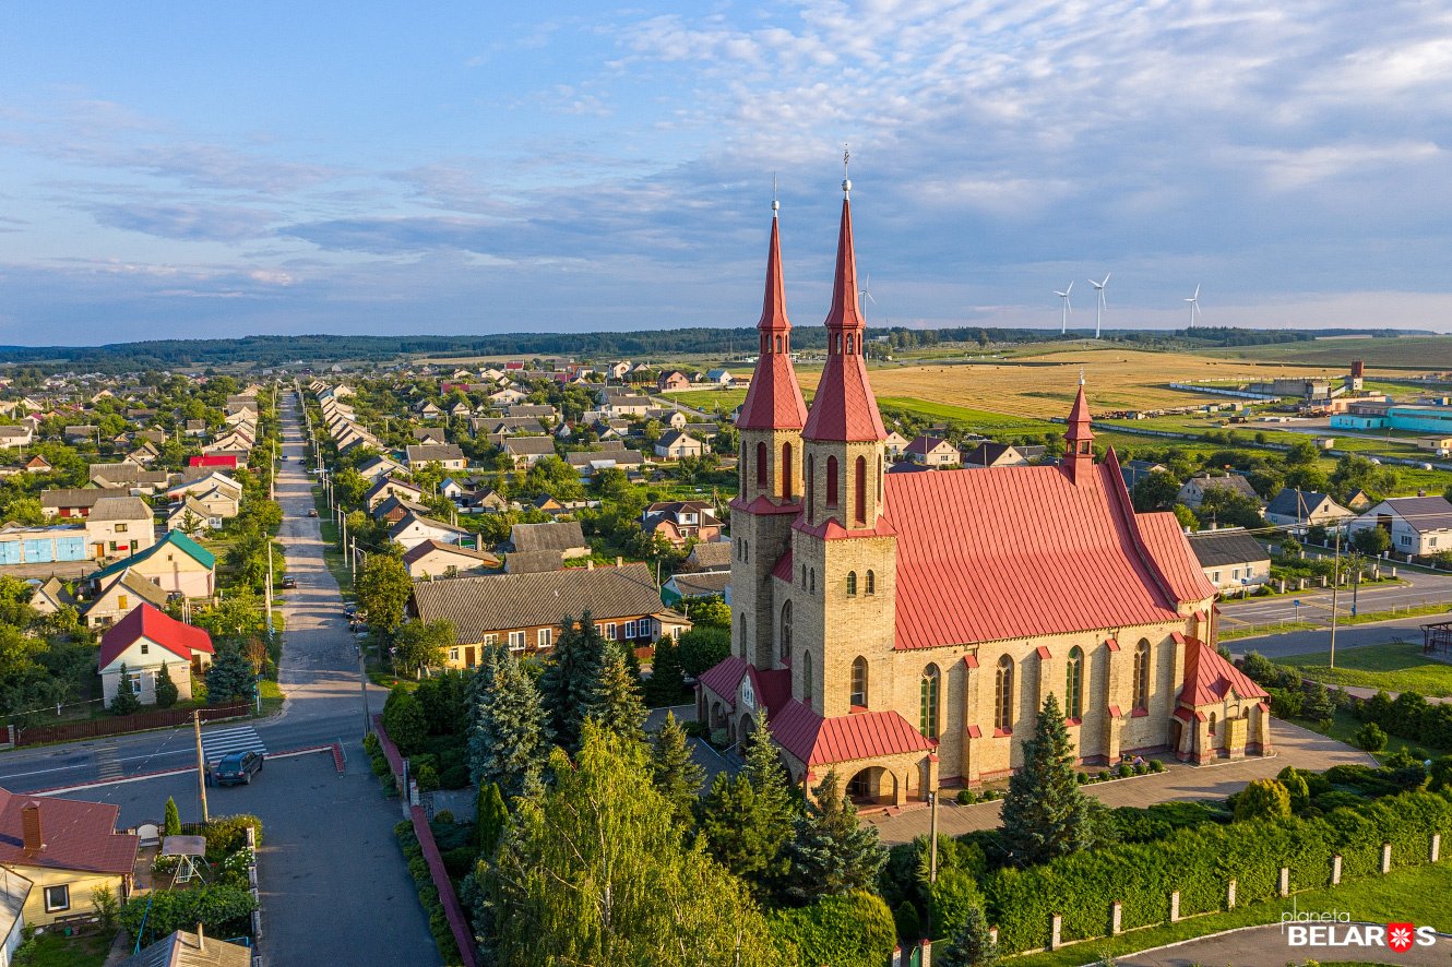
[[[862,362],[864,322],[857,306],[857,256],[852,251],[852,203],[842,181],[842,227],[836,238],[836,277],[826,314],[828,357],[802,436],[809,440],[886,440],[883,415]]]

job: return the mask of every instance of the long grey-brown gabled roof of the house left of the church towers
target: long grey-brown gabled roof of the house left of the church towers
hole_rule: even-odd
[[[414,585],[414,611],[425,621],[453,621],[460,645],[485,633],[559,624],[590,611],[597,621],[661,614],[661,592],[648,565],[492,574]]]

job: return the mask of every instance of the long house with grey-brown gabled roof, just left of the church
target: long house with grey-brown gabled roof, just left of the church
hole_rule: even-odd
[[[662,635],[691,627],[687,617],[661,604],[655,575],[643,563],[424,581],[408,601],[412,617],[453,624],[450,668],[472,668],[484,648],[497,645],[514,653],[547,652],[560,619],[585,611],[607,640],[624,642],[640,656],[649,656]]]

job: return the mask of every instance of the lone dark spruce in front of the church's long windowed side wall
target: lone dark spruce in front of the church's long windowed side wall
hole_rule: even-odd
[[[1093,846],[1093,810],[1074,777],[1074,749],[1059,700],[1050,694],[1024,742],[1024,767],[1008,781],[1003,842],[1021,865]]]

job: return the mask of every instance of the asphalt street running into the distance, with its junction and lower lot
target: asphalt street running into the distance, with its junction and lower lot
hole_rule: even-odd
[[[280,714],[250,723],[269,752],[341,742],[347,770],[331,755],[274,759],[248,787],[209,790],[212,815],[253,812],[263,820],[260,855],[264,939],[269,967],[317,963],[437,964],[439,954],[393,825],[399,801],[386,800],[363,754],[363,706],[357,652],[343,616],[337,582],[324,566],[318,520],[309,518],[311,484],[302,463],[302,428],[290,396],[283,404],[277,499],[279,540],[287,572],[298,579],[283,603],[286,643]],[[386,691],[370,687],[379,711]],[[238,723],[219,723],[203,735]],[[0,754],[0,787],[35,791],[109,781],[67,791],[77,799],[116,803],[121,822],[160,822],[167,796],[183,820],[200,819],[196,772],[132,778],[195,765],[192,729],[145,732],[91,742]],[[319,960],[321,955],[321,960]]]

